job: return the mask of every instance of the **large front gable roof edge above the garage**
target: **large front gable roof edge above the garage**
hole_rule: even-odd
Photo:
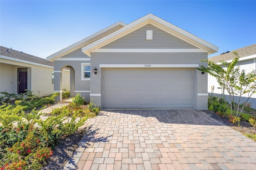
[[[151,24],[153,26],[156,26],[157,28],[160,28],[161,30],[164,30],[165,32],[172,34],[176,36],[177,38],[180,38],[181,40],[184,40],[185,42],[188,42],[200,49],[204,49],[204,51],[208,52],[208,54],[212,54],[218,51],[218,47],[190,34],[189,32],[186,32],[152,14],[148,14],[126,26],[123,28],[120,28],[119,30],[109,34],[108,36],[105,36],[95,42],[92,42],[85,47],[82,47],[82,51],[86,53],[86,55],[90,56],[90,52],[94,49],[99,49],[100,47],[103,47],[104,45],[111,43],[115,40],[118,40],[119,38],[133,32],[134,30],[137,30],[147,24]]]

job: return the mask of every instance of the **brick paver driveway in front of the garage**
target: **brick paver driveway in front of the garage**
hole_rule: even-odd
[[[256,142],[193,109],[103,110],[64,169],[256,169]]]

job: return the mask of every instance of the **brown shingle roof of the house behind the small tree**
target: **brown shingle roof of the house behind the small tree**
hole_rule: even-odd
[[[251,55],[255,55],[254,58],[256,58],[256,43],[252,44],[252,45],[249,45],[249,46],[246,46],[246,47],[235,49],[233,51],[236,51],[238,53],[238,55],[240,56],[240,61],[243,57],[248,57],[248,56],[251,56]],[[221,60],[223,60],[223,61],[232,60],[232,59],[235,58],[235,55],[233,54],[233,51],[230,51],[229,53],[225,53],[225,54],[222,54],[222,55],[216,55],[216,56],[210,57],[210,58],[208,58],[208,60],[214,61],[215,63],[218,63]],[[244,58],[244,59],[247,59],[247,58]]]

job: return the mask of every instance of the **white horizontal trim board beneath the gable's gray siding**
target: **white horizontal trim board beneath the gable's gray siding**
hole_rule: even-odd
[[[205,49],[111,49],[111,48],[98,48],[94,49],[91,52],[97,52],[97,53],[207,53]]]

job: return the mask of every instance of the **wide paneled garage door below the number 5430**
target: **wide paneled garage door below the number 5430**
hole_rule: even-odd
[[[193,108],[193,69],[103,69],[104,108]]]

